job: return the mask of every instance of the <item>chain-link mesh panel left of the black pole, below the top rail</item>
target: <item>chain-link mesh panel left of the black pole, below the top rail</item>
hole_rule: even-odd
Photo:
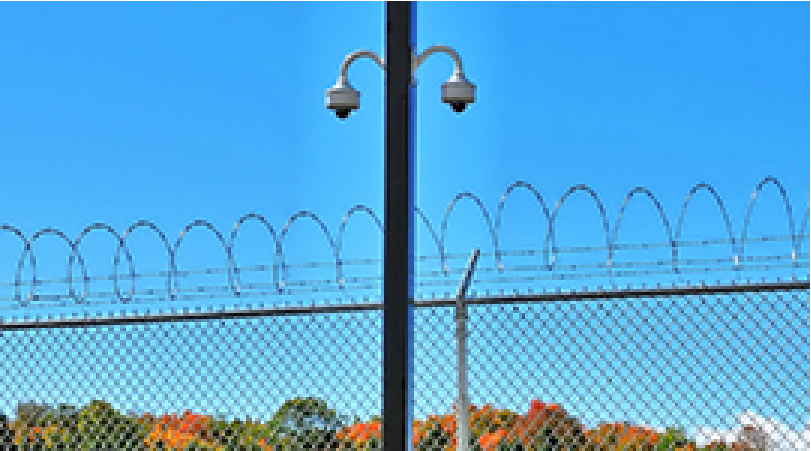
[[[2,446],[337,445],[359,421],[351,415],[381,410],[381,337],[374,310],[6,330],[6,406],[43,396],[57,405],[19,403],[14,421],[4,416]]]

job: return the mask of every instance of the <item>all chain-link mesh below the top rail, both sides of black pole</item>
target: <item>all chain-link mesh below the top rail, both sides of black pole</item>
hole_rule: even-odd
[[[455,450],[455,308],[418,307],[413,445]],[[467,309],[468,450],[808,449],[805,290]],[[4,449],[382,446],[380,309],[12,329],[2,343]]]

